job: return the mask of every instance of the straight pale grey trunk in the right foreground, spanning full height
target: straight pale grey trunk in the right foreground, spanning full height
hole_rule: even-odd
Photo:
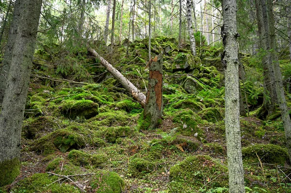
[[[239,104],[239,60],[236,27],[236,0],[223,1],[222,38],[225,47],[226,147],[229,193],[244,193]]]

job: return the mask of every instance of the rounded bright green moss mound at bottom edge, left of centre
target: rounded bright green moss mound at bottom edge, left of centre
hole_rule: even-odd
[[[90,186],[95,193],[123,193],[125,189],[124,180],[115,172],[99,171]]]

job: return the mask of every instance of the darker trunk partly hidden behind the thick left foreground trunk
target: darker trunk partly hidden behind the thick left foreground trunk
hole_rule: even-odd
[[[20,4],[20,1],[21,0],[16,0],[14,4],[13,20],[10,25],[7,45],[5,48],[4,59],[3,59],[2,67],[0,71],[0,103],[3,102],[3,97],[4,97],[4,93],[6,89],[6,80],[9,74],[12,53],[14,49],[16,34],[17,34],[17,28],[19,25],[20,12],[22,10],[21,8],[22,4]]]

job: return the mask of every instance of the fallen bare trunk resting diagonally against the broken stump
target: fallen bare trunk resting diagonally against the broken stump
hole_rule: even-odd
[[[146,95],[137,89],[124,75],[116,70],[108,61],[103,59],[94,49],[88,48],[88,51],[114,76],[116,80],[138,101],[143,107],[146,104]]]

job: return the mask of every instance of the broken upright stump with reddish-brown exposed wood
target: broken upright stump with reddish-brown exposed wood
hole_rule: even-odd
[[[145,129],[155,129],[161,124],[162,108],[162,55],[159,55],[149,61],[148,90],[144,109]]]

